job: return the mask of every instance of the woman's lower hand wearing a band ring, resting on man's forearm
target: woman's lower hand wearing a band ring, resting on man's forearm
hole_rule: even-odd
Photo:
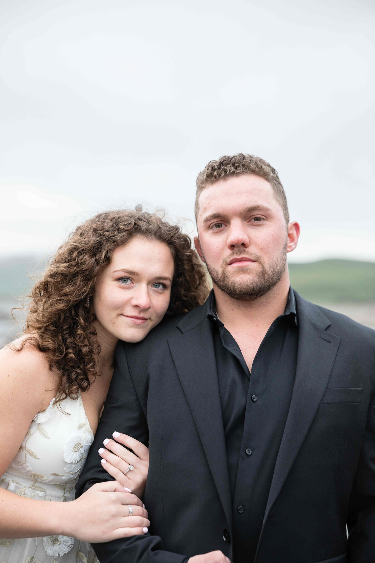
[[[83,542],[110,542],[144,535],[150,526],[147,510],[139,498],[127,493],[116,481],[96,483],[75,501],[58,504],[64,505],[65,511],[59,533]]]

